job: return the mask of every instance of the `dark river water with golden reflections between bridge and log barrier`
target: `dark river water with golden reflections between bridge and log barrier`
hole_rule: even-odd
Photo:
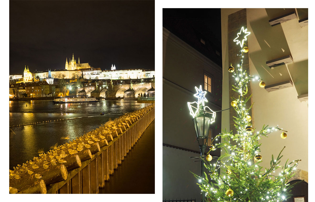
[[[98,103],[53,104],[49,100],[10,101],[9,125],[36,125],[9,129],[9,169],[38,156],[58,143],[67,143],[91,131],[111,118],[112,120],[150,104],[126,100],[100,100]],[[105,115],[100,115],[104,112]],[[66,121],[54,121],[74,118]],[[46,123],[46,121],[49,121]],[[50,122],[52,121],[52,122]],[[62,139],[69,137],[69,139]]]

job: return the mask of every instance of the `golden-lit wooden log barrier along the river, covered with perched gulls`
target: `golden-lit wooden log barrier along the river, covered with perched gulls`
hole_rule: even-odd
[[[155,118],[149,105],[9,170],[11,194],[97,194]]]

